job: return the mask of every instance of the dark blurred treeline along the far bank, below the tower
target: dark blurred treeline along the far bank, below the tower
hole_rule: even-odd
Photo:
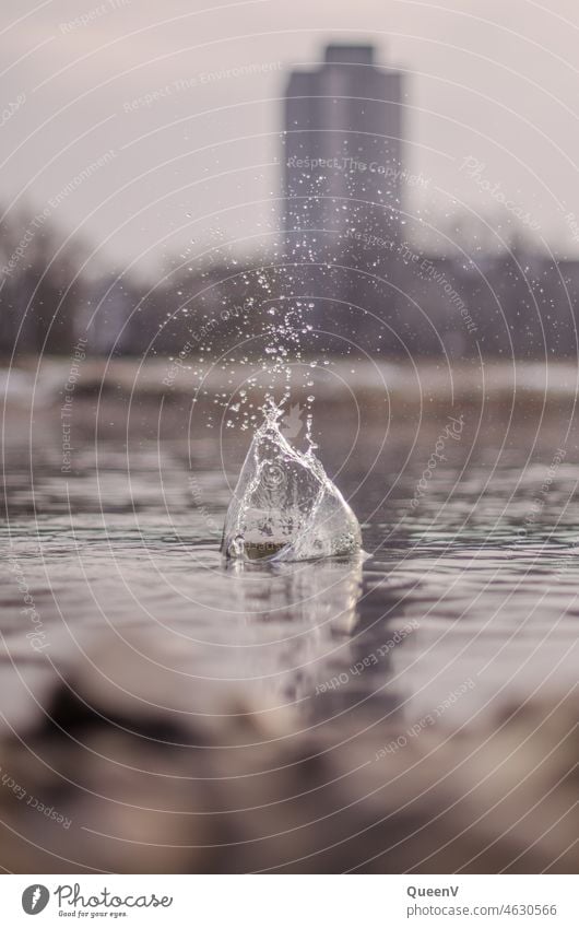
[[[348,233],[300,263],[272,258],[176,269],[162,282],[80,273],[87,249],[45,213],[0,224],[0,353],[223,354],[320,351],[416,356],[575,356],[579,261],[528,250],[429,257]],[[269,351],[265,352],[265,349]]]

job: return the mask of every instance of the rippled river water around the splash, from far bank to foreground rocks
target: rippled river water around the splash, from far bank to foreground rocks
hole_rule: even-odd
[[[67,372],[7,375],[4,727],[37,716],[103,641],[121,658],[110,685],[129,679],[146,701],[162,674],[169,712],[204,710],[191,680],[208,706],[232,684],[309,726],[364,714],[377,743],[382,721],[438,707],[460,727],[575,681],[572,367],[545,386],[534,367],[449,380],[386,366],[386,390],[375,366],[344,368],[341,392],[317,391],[315,433],[364,554],[277,567],[228,567],[218,551],[249,432],[225,428],[218,404],[205,427],[188,383],[167,396],[163,365],[129,362],[87,366],[67,420]]]

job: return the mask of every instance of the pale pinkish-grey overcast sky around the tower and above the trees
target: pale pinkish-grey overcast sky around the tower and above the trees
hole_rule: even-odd
[[[409,171],[428,180],[411,211],[452,226],[464,203],[505,235],[519,213],[531,240],[579,254],[577,0],[4,2],[0,200],[153,272],[251,249],[279,212],[285,71],[330,39],[370,40],[409,74]],[[227,74],[244,66],[262,72]]]

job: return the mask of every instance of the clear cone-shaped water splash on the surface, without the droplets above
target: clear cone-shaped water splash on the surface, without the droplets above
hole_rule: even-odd
[[[256,432],[225,518],[222,552],[235,560],[308,561],[362,544],[356,516],[314,454],[292,447],[273,404]],[[308,430],[309,434],[309,430]]]

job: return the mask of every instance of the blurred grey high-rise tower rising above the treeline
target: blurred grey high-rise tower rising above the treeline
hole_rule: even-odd
[[[285,96],[285,228],[343,232],[376,213],[398,225],[402,199],[402,74],[371,45],[329,45],[314,71],[294,71]]]

